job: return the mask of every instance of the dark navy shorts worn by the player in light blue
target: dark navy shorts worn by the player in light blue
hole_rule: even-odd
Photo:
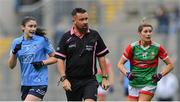
[[[43,100],[43,97],[47,91],[47,85],[40,86],[21,86],[21,100],[24,101],[28,94],[34,95]]]

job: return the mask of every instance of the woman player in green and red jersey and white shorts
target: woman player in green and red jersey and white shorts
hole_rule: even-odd
[[[140,40],[129,44],[118,62],[118,68],[129,79],[128,101],[150,101],[157,82],[173,69],[167,51],[162,45],[151,40],[152,31],[152,25],[141,24],[138,27]],[[159,58],[166,66],[157,72]],[[130,71],[124,67],[127,60],[130,61]]]

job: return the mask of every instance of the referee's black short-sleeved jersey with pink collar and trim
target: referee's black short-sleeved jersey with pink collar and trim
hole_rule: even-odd
[[[59,42],[56,58],[66,60],[67,77],[89,77],[97,73],[96,57],[109,53],[99,33],[89,29],[79,38],[72,29],[66,32]]]

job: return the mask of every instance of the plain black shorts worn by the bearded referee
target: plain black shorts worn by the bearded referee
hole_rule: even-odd
[[[72,91],[66,91],[68,101],[97,100],[98,82],[95,77],[69,79]]]

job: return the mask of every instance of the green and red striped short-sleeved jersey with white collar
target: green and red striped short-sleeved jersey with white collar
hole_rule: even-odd
[[[165,60],[168,54],[156,42],[151,41],[149,46],[143,47],[141,41],[136,41],[127,46],[122,56],[130,60],[130,70],[137,76],[129,84],[133,87],[144,87],[157,85],[152,82],[152,75],[157,73],[158,59]]]

